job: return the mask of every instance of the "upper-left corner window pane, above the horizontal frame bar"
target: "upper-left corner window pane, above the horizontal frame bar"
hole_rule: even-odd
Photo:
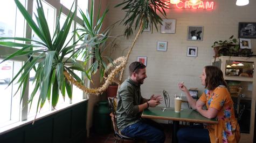
[[[20,3],[25,5],[25,0],[20,0]],[[0,36],[24,37],[24,18],[17,9],[15,2],[0,1],[0,13],[2,13],[0,14]]]

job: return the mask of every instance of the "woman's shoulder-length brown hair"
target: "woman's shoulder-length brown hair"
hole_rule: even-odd
[[[223,78],[223,72],[219,69],[219,67],[208,65],[204,68],[206,73],[205,88],[212,91],[219,85],[224,85],[227,89],[229,89],[227,82]]]

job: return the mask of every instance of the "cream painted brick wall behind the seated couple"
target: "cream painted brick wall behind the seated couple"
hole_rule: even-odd
[[[176,33],[162,34],[159,31],[151,34],[143,32],[139,36],[130,55],[127,67],[136,61],[137,56],[147,56],[147,76],[141,86],[142,95],[149,97],[151,94],[162,94],[163,89],[169,94],[181,94],[177,88],[178,82],[184,81],[188,88],[196,87],[199,94],[203,86],[200,84],[199,75],[205,65],[211,65],[212,44],[217,40],[227,40],[231,35],[238,36],[238,22],[256,22],[256,1],[250,1],[249,5],[236,6],[236,1],[216,0],[214,10],[171,9],[167,10],[167,19],[176,19]],[[110,10],[108,24],[120,20],[125,13],[120,7],[114,6],[121,1],[108,1]],[[188,26],[203,26],[203,41],[188,41]],[[160,28],[160,25],[158,25]],[[124,33],[124,26],[116,25],[112,35]],[[135,32],[136,33],[136,32]],[[135,35],[135,34],[134,34]],[[126,40],[119,39],[117,48],[112,57],[127,54],[128,48],[134,36]],[[157,41],[168,41],[167,51],[157,51]],[[254,54],[256,53],[256,40],[252,39]],[[187,57],[187,47],[198,47],[197,57]],[[128,77],[128,69],[124,78]],[[164,104],[164,103],[162,103]]]

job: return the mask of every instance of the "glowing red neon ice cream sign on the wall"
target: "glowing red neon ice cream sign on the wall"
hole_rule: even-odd
[[[207,10],[213,10],[214,2],[212,1],[205,1],[205,2],[200,2],[198,5],[189,5],[189,1],[180,1],[177,4],[171,4],[170,2],[166,2],[165,4],[167,5],[167,8],[170,9],[207,9]]]

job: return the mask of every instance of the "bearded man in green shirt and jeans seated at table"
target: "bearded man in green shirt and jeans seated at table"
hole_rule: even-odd
[[[122,83],[117,96],[116,114],[119,130],[124,136],[140,138],[147,142],[164,142],[164,133],[158,129],[160,126],[149,124],[140,118],[144,109],[160,104],[161,95],[152,95],[150,99],[141,96],[140,85],[147,78],[146,66],[143,63],[130,64],[129,73],[129,78]]]

